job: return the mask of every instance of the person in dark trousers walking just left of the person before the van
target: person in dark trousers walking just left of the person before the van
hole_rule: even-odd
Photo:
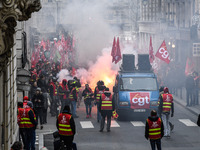
[[[92,101],[93,99],[93,92],[92,89],[89,87],[89,84],[85,85],[85,89],[83,90],[82,96],[84,97],[84,103],[86,108],[86,118],[91,118],[91,111],[92,111]]]

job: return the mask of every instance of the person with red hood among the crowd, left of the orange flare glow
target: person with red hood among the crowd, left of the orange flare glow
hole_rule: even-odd
[[[58,93],[59,93],[60,100],[61,100],[61,111],[62,111],[65,105],[70,105],[70,100],[68,99],[69,89],[67,86],[66,79],[63,79],[62,83],[59,85]]]

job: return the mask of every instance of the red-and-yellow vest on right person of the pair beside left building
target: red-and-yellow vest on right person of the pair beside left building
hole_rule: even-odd
[[[24,128],[32,128],[34,127],[35,125],[32,124],[32,122],[30,121],[30,117],[28,115],[29,111],[33,111],[32,108],[24,108],[24,112],[23,112],[23,117],[22,117],[22,124],[24,126]],[[35,117],[35,113],[33,111],[33,114],[34,114],[34,120],[36,121],[36,117]]]

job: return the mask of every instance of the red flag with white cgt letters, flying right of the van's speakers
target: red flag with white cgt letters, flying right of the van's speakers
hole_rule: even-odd
[[[170,63],[169,52],[167,51],[165,40],[162,42],[162,44],[161,44],[160,48],[158,49],[155,56],[160,58],[161,60],[163,60],[167,64]]]

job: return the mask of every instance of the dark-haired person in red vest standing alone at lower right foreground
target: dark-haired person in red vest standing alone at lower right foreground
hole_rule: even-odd
[[[151,116],[146,120],[145,138],[150,140],[152,150],[161,150],[161,139],[164,135],[164,126],[156,110],[151,111]]]

